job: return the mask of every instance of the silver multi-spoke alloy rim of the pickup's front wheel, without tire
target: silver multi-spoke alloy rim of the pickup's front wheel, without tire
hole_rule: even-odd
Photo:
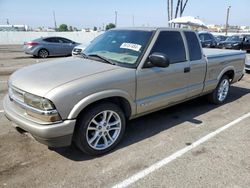
[[[104,150],[111,146],[121,132],[121,118],[112,110],[94,116],[87,127],[86,139],[90,147]]]

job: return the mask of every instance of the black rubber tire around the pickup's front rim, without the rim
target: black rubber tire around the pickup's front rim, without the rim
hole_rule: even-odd
[[[111,112],[114,112],[114,117],[118,118],[118,120],[115,119],[113,116],[111,118],[115,119],[115,121],[120,120],[119,121],[120,122],[119,123],[120,130],[119,130],[119,133],[116,133],[116,135],[115,135],[115,132],[118,130],[111,130],[111,126],[110,126],[109,131],[107,131],[107,129],[105,129],[105,128],[97,129],[98,127],[100,128],[100,126],[108,127],[111,118],[106,122],[106,125],[104,125],[104,124],[100,125],[104,119],[103,113],[105,113],[107,111],[110,114],[111,114]],[[106,115],[106,117],[107,116],[108,115]],[[97,121],[98,118],[100,118],[101,121],[98,122]],[[96,123],[92,123],[94,120],[96,120],[95,122],[98,122],[98,125]],[[92,126],[94,128],[96,128],[97,130],[89,130],[89,127],[93,128]],[[79,119],[77,120],[77,123],[76,123],[74,142],[75,142],[76,146],[84,153],[87,153],[89,155],[101,155],[101,154],[104,154],[104,153],[112,150],[121,141],[121,139],[124,135],[124,132],[125,132],[125,127],[126,127],[126,119],[125,119],[123,111],[121,110],[121,108],[119,106],[117,106],[116,104],[113,104],[113,103],[109,103],[109,102],[100,103],[100,104],[92,106],[91,108],[86,110],[79,117]],[[103,129],[105,129],[105,130],[103,130]],[[106,143],[108,143],[107,138],[108,139],[111,138],[112,133],[113,133],[113,136],[115,136],[115,138],[113,140],[111,140],[111,139],[109,140],[111,143],[112,142],[113,143],[110,144],[108,147],[103,148],[103,149],[97,148],[97,147],[94,148],[95,146],[93,146],[91,144],[92,142],[95,142],[97,144],[102,143],[99,145],[105,145],[104,137],[105,137]],[[100,134],[102,134],[102,136],[100,136]],[[107,134],[108,134],[108,136],[107,136]],[[96,135],[99,135],[99,136],[95,140],[95,139],[93,139],[93,137],[97,137]],[[109,137],[109,136],[111,136],[111,137]],[[92,140],[92,139],[93,139],[93,141],[91,142],[90,140]],[[89,143],[89,142],[91,142],[91,143]]]

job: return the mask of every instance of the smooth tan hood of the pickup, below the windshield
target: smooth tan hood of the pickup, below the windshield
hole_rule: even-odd
[[[22,68],[12,74],[9,84],[44,97],[50,90],[62,84],[118,68],[99,61],[69,57]]]

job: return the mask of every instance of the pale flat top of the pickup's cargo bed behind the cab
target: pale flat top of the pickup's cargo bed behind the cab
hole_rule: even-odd
[[[224,50],[224,49],[213,49],[213,48],[203,48],[203,52],[208,59],[216,57],[242,55],[246,53],[245,51],[241,50]]]

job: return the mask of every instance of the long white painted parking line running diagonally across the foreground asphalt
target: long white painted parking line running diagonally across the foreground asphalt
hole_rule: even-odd
[[[195,141],[194,143],[192,143],[191,145],[173,153],[172,155],[162,159],[161,161],[156,162],[155,164],[149,166],[148,168],[130,176],[129,178],[123,180],[122,182],[114,185],[112,188],[123,188],[123,187],[127,187],[129,185],[131,185],[132,183],[135,183],[136,181],[144,178],[145,176],[149,175],[150,173],[158,170],[159,168],[167,165],[168,163],[170,163],[171,161],[174,161],[175,159],[177,159],[178,157],[181,157],[182,155],[184,155],[185,153],[187,153],[188,151],[192,150],[193,148],[201,145],[202,143],[208,141],[209,139],[215,137],[217,134],[221,133],[222,131],[228,129],[229,127],[241,122],[242,120],[246,119],[250,117],[250,112],[237,118],[236,120],[224,125],[223,127],[220,127],[219,129],[216,129],[214,132],[211,132],[209,134],[207,134],[206,136],[202,137],[201,139]]]

